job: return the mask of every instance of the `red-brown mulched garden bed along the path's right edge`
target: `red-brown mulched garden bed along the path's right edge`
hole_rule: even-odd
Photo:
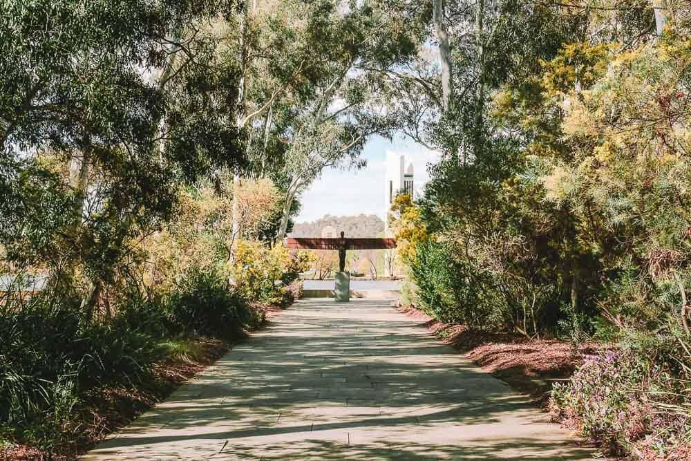
[[[561,422],[567,429],[583,435],[587,442],[598,446],[603,458],[645,461],[690,459],[691,445],[682,440],[672,440],[672,436],[670,436],[670,440],[661,440],[659,434],[655,432],[655,429],[660,428],[667,428],[672,434],[683,432],[679,431],[679,427],[675,427],[675,424],[685,424],[683,415],[680,414],[679,420],[676,421],[674,417],[662,417],[659,411],[654,412],[652,408],[639,408],[641,402],[645,404],[647,400],[643,399],[638,402],[633,398],[636,395],[633,392],[630,393],[628,399],[630,402],[623,405],[623,408],[627,409],[620,412],[621,418],[623,418],[620,421],[621,425],[627,429],[614,429],[606,426],[607,429],[603,429],[601,433],[589,436],[583,434],[583,428],[588,424],[591,425],[592,420],[585,420],[583,415],[574,408],[557,408],[554,401],[550,403],[553,384],[569,381],[576,369],[585,361],[589,361],[591,366],[603,360],[609,363],[607,357],[621,355],[621,350],[618,348],[608,347],[606,344],[583,343],[574,345],[555,339],[527,339],[521,335],[509,333],[471,331],[459,325],[439,322],[412,306],[400,307],[399,311],[408,317],[419,319],[422,325],[435,336],[464,353],[465,357],[471,359],[483,370],[521,393],[529,395],[533,402],[545,411],[549,410],[555,420]],[[620,361],[617,363],[619,364]],[[618,366],[621,367],[622,365],[619,364]],[[620,373],[624,373],[623,370],[625,369],[625,367],[622,368]],[[583,368],[579,373],[583,374]],[[578,375],[576,376],[578,377]],[[615,376],[610,378],[609,375],[602,377],[605,380],[612,379],[612,382],[614,382],[614,378]],[[583,376],[580,377],[581,386],[588,382],[588,379],[584,381]],[[598,386],[597,382],[594,382],[593,385]],[[560,388],[560,393],[564,392],[563,389]],[[602,396],[585,393],[583,398],[589,399],[589,404],[597,407],[598,411],[611,410],[609,405],[612,402],[603,401]],[[645,407],[645,405],[643,406]],[[655,413],[654,416],[653,413]],[[650,424],[644,424],[647,418],[652,417],[656,418],[652,427]],[[636,418],[640,420],[641,424],[636,424],[638,421]],[[595,420],[598,425],[602,423],[603,428],[605,427],[605,417],[597,416]],[[634,437],[635,434],[632,434],[632,429],[638,429],[641,433]],[[675,437],[679,438],[678,435]],[[619,458],[621,456],[627,458]]]

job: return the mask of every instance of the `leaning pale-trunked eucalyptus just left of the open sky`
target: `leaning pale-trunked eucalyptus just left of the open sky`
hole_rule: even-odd
[[[404,19],[375,2],[337,8],[323,1],[314,26],[305,30],[311,79],[290,94],[285,117],[272,131],[281,147],[274,173],[285,185],[278,239],[285,236],[293,200],[330,167],[361,167],[359,154],[374,134],[390,136],[399,127],[388,111],[390,82],[383,70],[415,55],[417,41]]]

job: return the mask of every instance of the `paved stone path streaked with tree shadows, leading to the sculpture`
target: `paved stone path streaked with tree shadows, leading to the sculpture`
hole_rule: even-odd
[[[86,459],[585,460],[387,301],[300,301]]]

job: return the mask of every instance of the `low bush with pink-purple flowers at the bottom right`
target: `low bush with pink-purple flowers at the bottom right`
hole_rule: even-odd
[[[553,387],[550,410],[609,453],[669,451],[689,442],[682,384],[641,353],[609,350],[585,357],[571,382]]]

